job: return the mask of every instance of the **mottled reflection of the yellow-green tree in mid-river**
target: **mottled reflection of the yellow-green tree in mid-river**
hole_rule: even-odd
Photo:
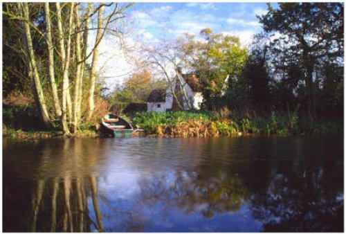
[[[176,171],[143,178],[138,202],[148,205],[164,201],[167,208],[199,212],[204,217],[239,209],[246,197],[242,179],[227,168],[203,169],[208,171]]]

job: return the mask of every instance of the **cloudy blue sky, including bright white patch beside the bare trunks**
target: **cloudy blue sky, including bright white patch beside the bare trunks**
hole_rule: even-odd
[[[275,8],[276,3],[271,5]],[[266,3],[136,3],[125,12],[124,41],[129,46],[138,42],[153,44],[210,28],[213,33],[235,35],[246,46],[253,34],[262,31],[256,15],[266,12]],[[98,70],[107,78],[110,90],[122,84],[135,69],[118,44],[111,37],[105,37],[100,44]]]

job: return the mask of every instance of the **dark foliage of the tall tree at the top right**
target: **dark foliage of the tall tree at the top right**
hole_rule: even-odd
[[[343,3],[279,3],[259,17],[266,33],[277,32],[264,46],[277,107],[300,103],[315,118],[343,115],[343,11]]]

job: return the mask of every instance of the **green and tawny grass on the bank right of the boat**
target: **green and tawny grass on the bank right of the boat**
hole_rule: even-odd
[[[210,112],[138,112],[132,123],[146,134],[158,136],[219,136],[219,135],[277,135],[343,134],[343,123],[332,120],[299,118],[296,112],[251,118],[237,116],[221,119]]]

